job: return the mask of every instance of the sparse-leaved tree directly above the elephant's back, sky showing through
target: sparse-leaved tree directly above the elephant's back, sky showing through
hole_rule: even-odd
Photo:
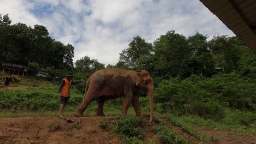
[[[133,38],[127,49],[119,53],[119,62],[123,62],[130,69],[137,69],[137,59],[143,55],[149,55],[152,51],[152,44],[137,36]]]

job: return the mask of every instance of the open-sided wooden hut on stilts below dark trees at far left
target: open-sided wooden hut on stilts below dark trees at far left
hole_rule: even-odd
[[[27,66],[26,65],[21,65],[21,64],[14,64],[14,63],[7,63],[7,62],[2,62],[2,67],[3,67],[3,72],[8,71],[9,73],[13,73],[13,75],[18,73],[20,74],[20,71],[22,73],[22,78],[24,77],[25,71],[27,71]]]

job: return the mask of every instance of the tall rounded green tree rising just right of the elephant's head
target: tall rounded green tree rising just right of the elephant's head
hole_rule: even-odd
[[[191,49],[189,49],[188,41],[183,35],[169,31],[156,39],[153,45],[156,76],[164,77],[164,79],[178,75],[190,76]]]

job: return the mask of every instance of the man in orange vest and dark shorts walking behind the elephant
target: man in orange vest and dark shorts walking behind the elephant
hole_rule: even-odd
[[[63,116],[63,110],[64,110],[64,107],[66,106],[66,104],[68,103],[68,100],[70,98],[70,88],[71,88],[71,86],[77,85],[78,83],[84,81],[82,79],[81,81],[73,82],[72,78],[73,78],[73,74],[71,72],[69,72],[66,75],[66,78],[62,79],[60,87],[59,87],[59,102],[60,102],[61,106],[60,106],[60,110],[59,110],[59,113],[58,113],[57,117],[62,118],[62,119],[66,119],[66,117]]]

